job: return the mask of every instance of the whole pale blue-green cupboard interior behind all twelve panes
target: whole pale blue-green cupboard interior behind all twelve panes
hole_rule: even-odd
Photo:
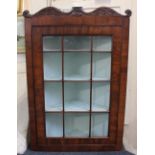
[[[47,137],[63,137],[63,96],[65,137],[89,137],[90,99],[91,137],[108,136],[111,54],[111,36],[43,37]]]

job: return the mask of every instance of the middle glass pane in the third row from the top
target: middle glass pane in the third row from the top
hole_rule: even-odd
[[[88,82],[65,82],[64,102],[65,111],[88,111],[90,84]]]

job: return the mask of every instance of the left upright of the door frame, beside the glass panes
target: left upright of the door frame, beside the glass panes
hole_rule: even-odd
[[[43,53],[40,29],[32,28],[33,61],[34,61],[34,95],[36,105],[36,127],[38,144],[45,144],[45,114],[44,114],[44,81]]]

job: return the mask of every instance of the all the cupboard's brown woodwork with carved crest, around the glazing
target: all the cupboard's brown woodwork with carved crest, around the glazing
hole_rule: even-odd
[[[32,150],[103,151],[122,148],[131,11],[127,10],[125,13],[126,15],[121,15],[106,7],[98,8],[90,13],[85,13],[80,7],[75,7],[68,13],[53,7],[42,9],[34,15],[24,11]],[[113,36],[110,125],[107,138],[46,138],[42,35]],[[92,83],[92,75],[90,82]],[[63,83],[64,80],[62,80]]]

